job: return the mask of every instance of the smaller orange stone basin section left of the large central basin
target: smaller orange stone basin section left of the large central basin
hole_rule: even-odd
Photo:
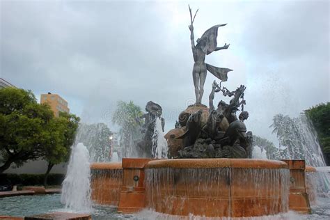
[[[121,163],[91,164],[92,200],[102,205],[118,205],[123,183]]]

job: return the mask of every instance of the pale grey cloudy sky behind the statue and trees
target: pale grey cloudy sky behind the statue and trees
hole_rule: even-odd
[[[227,50],[206,62],[246,85],[248,129],[274,140],[276,113],[298,116],[329,102],[328,1],[0,1],[0,77],[37,97],[57,93],[88,123],[104,122],[118,100],[162,105],[166,130],[195,100],[189,10],[195,36],[214,24]],[[207,74],[203,103],[212,81]],[[215,102],[226,100],[217,94]]]

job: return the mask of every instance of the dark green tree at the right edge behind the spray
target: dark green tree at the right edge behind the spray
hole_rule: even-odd
[[[307,117],[313,123],[317,137],[320,141],[324,159],[327,166],[330,165],[330,102],[318,104],[305,111]]]

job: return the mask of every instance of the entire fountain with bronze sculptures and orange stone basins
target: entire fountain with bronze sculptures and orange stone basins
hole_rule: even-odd
[[[246,87],[230,91],[221,86],[232,70],[204,62],[205,55],[228,49],[227,44],[217,47],[218,29],[226,24],[212,26],[195,45],[196,14],[192,16],[191,8],[189,12],[196,103],[182,111],[175,128],[164,135],[162,107],[148,102],[141,117],[143,139],[135,141],[141,157],[147,158],[92,164],[92,198],[118,205],[118,212],[150,209],[172,217],[262,217],[289,208],[311,212],[304,161],[268,160],[260,148],[253,150],[252,132],[244,125],[249,118],[244,111]],[[221,80],[212,84],[209,107],[201,103],[206,71]],[[215,108],[214,95],[219,92],[232,99]]]

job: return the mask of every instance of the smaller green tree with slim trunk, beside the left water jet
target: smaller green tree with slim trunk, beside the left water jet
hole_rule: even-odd
[[[50,122],[52,131],[52,143],[45,149],[44,159],[47,161],[44,185],[47,186],[47,177],[53,166],[62,162],[68,162],[71,146],[77,132],[80,118],[74,114],[60,112],[58,117]]]

